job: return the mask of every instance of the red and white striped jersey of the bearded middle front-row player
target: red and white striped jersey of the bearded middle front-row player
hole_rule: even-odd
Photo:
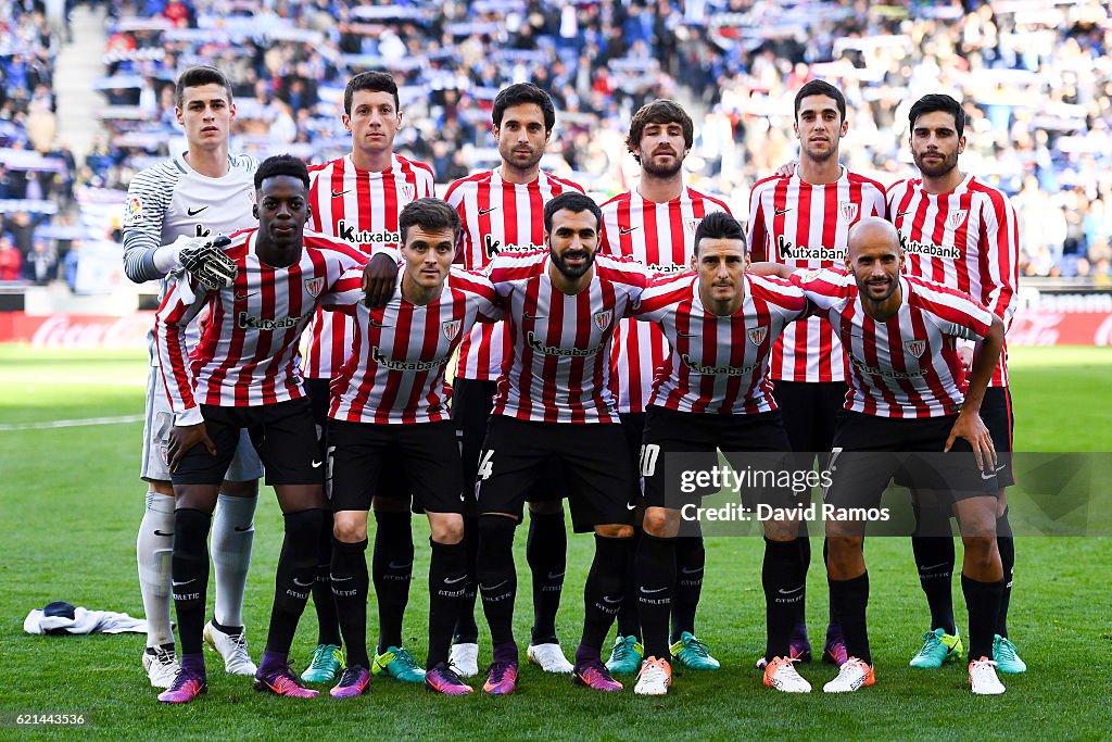
[[[513,360],[498,379],[493,415],[546,423],[617,423],[609,388],[610,338],[648,284],[638,263],[595,255],[595,275],[575,296],[553,286],[547,250],[503,255],[489,267]]]

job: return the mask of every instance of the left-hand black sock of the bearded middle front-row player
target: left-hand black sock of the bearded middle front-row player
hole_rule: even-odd
[[[517,572],[514,568],[514,521],[502,515],[479,518],[478,580],[483,613],[495,646],[514,641],[514,601]]]

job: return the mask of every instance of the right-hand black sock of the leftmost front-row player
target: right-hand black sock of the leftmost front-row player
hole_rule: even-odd
[[[286,535],[275,574],[275,602],[270,611],[267,651],[289,654],[297,622],[309,602],[317,577],[317,543],[324,511],[312,508],[286,513]]]

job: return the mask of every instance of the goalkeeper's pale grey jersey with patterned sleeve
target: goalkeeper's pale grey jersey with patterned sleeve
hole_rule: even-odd
[[[128,187],[123,214],[123,273],[137,284],[160,280],[159,300],[169,293],[173,274],[155,267],[155,250],[178,237],[216,237],[258,225],[255,205],[255,170],[250,155],[229,155],[228,172],[209,178],[193,170],[185,154],[136,174]],[[186,343],[192,348],[199,337],[198,323],[190,324]],[[147,336],[151,365],[158,359],[153,327]]]

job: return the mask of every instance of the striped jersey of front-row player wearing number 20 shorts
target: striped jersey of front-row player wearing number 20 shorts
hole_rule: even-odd
[[[698,276],[657,276],[633,309],[655,323],[672,352],[656,372],[652,405],[683,413],[744,415],[776,409],[767,378],[772,346],[811,305],[780,278],[745,275],[745,299],[728,317],[703,306]]]

